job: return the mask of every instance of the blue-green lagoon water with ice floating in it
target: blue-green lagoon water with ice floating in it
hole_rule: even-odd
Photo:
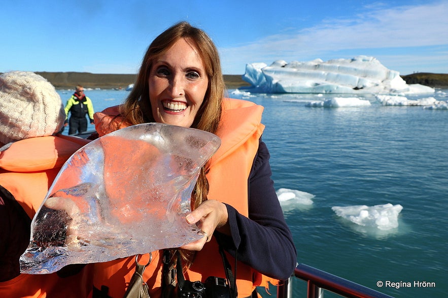
[[[59,93],[64,101],[71,95]],[[447,93],[434,97],[448,100]],[[121,103],[127,92],[86,94],[99,111]],[[382,106],[371,96],[363,97],[371,106],[351,108],[305,107],[327,96],[232,97],[265,107],[263,140],[275,188],[315,195],[313,205],[285,210],[299,263],[395,297],[447,296],[448,110]],[[386,203],[403,206],[398,228],[389,231],[362,228],[331,209]],[[377,281],[411,287],[378,287]],[[305,295],[305,282],[293,287],[294,296]]]

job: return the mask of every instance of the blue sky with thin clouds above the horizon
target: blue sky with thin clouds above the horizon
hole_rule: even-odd
[[[136,73],[154,37],[182,20],[213,38],[225,74],[357,55],[400,74],[448,73],[447,0],[4,1],[0,72]]]

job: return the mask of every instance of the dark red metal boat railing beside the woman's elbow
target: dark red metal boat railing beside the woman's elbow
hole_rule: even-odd
[[[305,264],[297,265],[293,276],[278,287],[277,298],[292,297],[292,279],[294,278],[307,282],[306,298],[323,298],[324,290],[347,298],[393,298],[382,292]]]

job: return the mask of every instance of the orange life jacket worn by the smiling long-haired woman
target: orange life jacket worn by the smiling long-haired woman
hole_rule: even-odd
[[[222,141],[221,147],[207,165],[206,177],[210,184],[208,197],[232,205],[245,216],[248,216],[248,178],[264,130],[264,125],[261,124],[262,111],[262,106],[252,102],[224,99],[217,132]],[[118,106],[95,113],[96,131],[99,136],[111,132],[108,128],[111,121],[120,123],[122,117],[117,116]],[[152,261],[143,274],[153,298],[161,295],[161,254],[161,251],[152,252]],[[233,265],[234,259],[228,253],[226,256]],[[148,258],[149,254],[145,254],[139,259],[139,263],[146,264]],[[202,282],[209,276],[225,278],[221,260],[218,243],[212,237],[212,240],[196,253],[192,266],[184,273],[185,278]],[[135,271],[134,264],[134,257],[95,264],[94,286],[97,289],[107,286],[109,296],[122,297]],[[239,297],[250,296],[256,286],[267,286],[267,281],[278,283],[277,280],[256,272],[242,262],[237,263],[236,285]]]

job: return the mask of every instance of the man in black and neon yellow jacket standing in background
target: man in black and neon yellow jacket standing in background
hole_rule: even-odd
[[[81,85],[76,86],[75,93],[67,100],[64,110],[66,115],[64,126],[69,125],[68,135],[87,131],[86,115],[89,116],[90,124],[93,124],[93,104],[84,94],[84,88]],[[71,112],[70,119],[68,119],[68,112]]]

